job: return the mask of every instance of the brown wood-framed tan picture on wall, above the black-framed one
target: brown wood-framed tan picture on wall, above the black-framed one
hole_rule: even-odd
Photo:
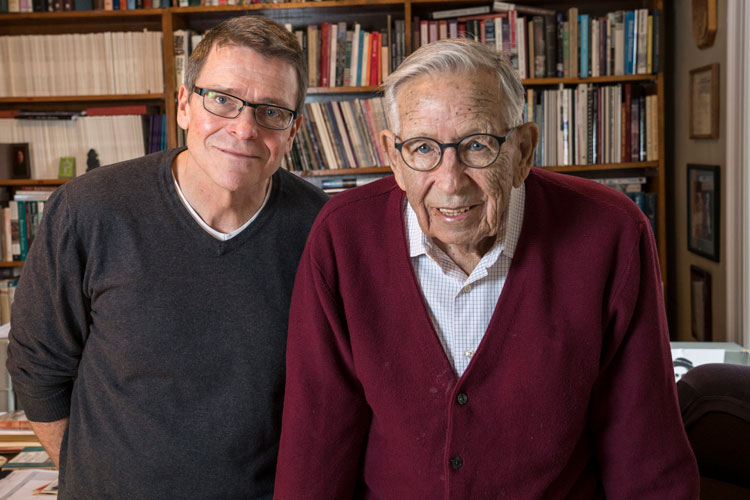
[[[719,64],[690,71],[690,138],[719,137]]]

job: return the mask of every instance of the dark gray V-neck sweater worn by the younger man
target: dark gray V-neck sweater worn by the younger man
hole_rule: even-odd
[[[297,262],[327,197],[274,174],[222,242],[181,204],[179,150],[102,167],[45,206],[13,304],[28,417],[70,416],[60,498],[268,498]]]

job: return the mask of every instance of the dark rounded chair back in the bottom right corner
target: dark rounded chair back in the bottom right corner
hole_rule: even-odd
[[[750,366],[707,364],[677,382],[701,498],[750,499]]]

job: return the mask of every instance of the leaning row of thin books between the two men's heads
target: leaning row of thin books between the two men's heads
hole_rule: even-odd
[[[382,97],[305,104],[305,121],[282,167],[321,170],[388,164],[378,132],[388,128]]]

